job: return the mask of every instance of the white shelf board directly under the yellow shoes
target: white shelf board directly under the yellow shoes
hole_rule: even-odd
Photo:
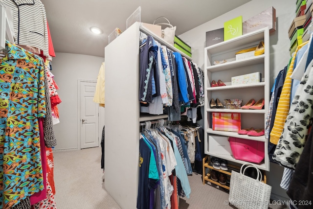
[[[207,67],[207,70],[210,70],[211,72],[217,72],[217,71],[223,71],[223,70],[229,70],[229,69],[235,69],[235,68],[242,68],[250,65],[257,65],[264,63],[265,55],[258,55],[255,57],[249,57],[246,59],[240,59],[235,60],[231,62],[225,62],[218,65],[212,65]]]

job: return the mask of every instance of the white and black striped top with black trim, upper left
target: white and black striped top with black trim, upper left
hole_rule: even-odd
[[[16,44],[40,48],[49,56],[45,6],[40,0],[3,0],[12,10]]]

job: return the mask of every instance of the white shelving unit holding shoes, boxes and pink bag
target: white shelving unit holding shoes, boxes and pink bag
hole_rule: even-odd
[[[214,61],[221,61],[235,57],[239,50],[257,46],[260,41],[264,41],[265,53],[246,59],[230,61],[219,65],[213,65]],[[213,46],[204,48],[204,75],[205,75],[205,103],[204,103],[204,152],[207,155],[215,156],[234,163],[246,163],[236,160],[233,156],[218,155],[209,152],[208,140],[209,135],[220,135],[225,137],[237,137],[242,139],[264,141],[265,159],[260,164],[255,164],[262,170],[269,171],[268,160],[268,141],[265,136],[250,137],[239,135],[237,132],[225,132],[212,130],[212,113],[240,113],[242,128],[265,128],[266,116],[268,113],[269,103],[269,33],[268,28],[263,28],[231,40],[218,43]],[[243,85],[231,85],[231,77],[249,74],[253,72],[262,73],[262,82]],[[226,86],[210,87],[212,80],[221,79]],[[243,99],[243,105],[251,98],[255,101],[264,98],[265,106],[262,110],[229,110],[229,109],[211,109],[211,99],[218,98],[222,103],[224,99]]]

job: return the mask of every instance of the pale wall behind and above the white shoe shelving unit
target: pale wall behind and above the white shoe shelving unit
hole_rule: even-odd
[[[221,5],[222,6],[222,5]],[[270,53],[270,77],[274,78],[279,70],[284,69],[290,59],[289,47],[290,40],[288,37],[288,29],[295,17],[295,0],[251,0],[248,3],[225,13],[224,15],[213,19],[207,23],[189,30],[188,32],[179,35],[179,37],[192,47],[192,58],[204,70],[204,50],[205,47],[205,32],[224,27],[224,22],[243,16],[243,21],[253,17],[260,12],[266,10],[270,6],[276,9],[276,32],[270,35],[269,53]],[[273,84],[273,79],[270,81],[270,86]],[[203,111],[202,111],[203,114]],[[203,121],[200,121],[203,125]],[[270,172],[267,173],[268,184],[272,186],[271,197],[275,200],[289,199],[286,191],[279,184],[281,181],[283,167],[270,163]]]

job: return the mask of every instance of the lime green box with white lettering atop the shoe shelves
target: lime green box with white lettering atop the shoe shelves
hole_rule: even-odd
[[[243,35],[243,16],[224,23],[224,41]]]

